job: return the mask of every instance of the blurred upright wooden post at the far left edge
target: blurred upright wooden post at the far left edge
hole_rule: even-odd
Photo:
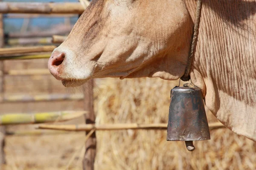
[[[2,1],[2,0],[0,0]],[[3,14],[0,14],[0,48],[4,46],[4,31],[3,31]],[[4,95],[4,66],[3,61],[0,61],[0,97]],[[1,99],[0,99],[1,100]],[[0,169],[5,164],[4,145],[5,145],[5,127],[0,126]]]

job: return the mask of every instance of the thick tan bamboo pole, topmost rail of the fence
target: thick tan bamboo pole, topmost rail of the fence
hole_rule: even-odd
[[[80,3],[0,3],[0,13],[23,14],[82,14]]]

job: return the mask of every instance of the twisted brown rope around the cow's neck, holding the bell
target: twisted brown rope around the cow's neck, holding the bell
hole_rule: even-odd
[[[193,33],[193,39],[192,39],[192,43],[191,43],[190,50],[189,50],[188,63],[186,65],[185,73],[181,77],[181,79],[184,82],[189,81],[189,79],[190,79],[189,72],[190,72],[190,68],[191,68],[191,64],[192,64],[192,59],[195,54],[195,46],[196,46],[196,42],[197,42],[197,38],[198,38],[198,28],[199,28],[199,23],[200,23],[201,7],[202,7],[202,0],[198,0],[197,6],[196,6],[196,14],[195,14],[194,33]]]

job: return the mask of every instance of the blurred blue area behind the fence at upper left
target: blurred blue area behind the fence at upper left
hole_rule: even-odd
[[[5,2],[78,2],[78,0],[3,0]],[[6,16],[6,15],[4,15]],[[78,17],[70,18],[70,23],[73,25],[76,23]],[[23,18],[4,18],[4,31],[5,33],[20,31],[20,28],[23,25]],[[40,30],[51,28],[54,25],[64,24],[63,17],[57,18],[31,18],[29,19],[28,31],[33,28],[38,28]]]

